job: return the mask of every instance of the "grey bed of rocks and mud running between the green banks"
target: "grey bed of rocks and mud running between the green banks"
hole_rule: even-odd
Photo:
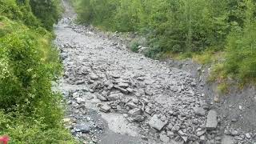
[[[102,144],[223,141],[216,111],[190,73],[75,25],[73,10],[64,6],[55,28],[65,70],[59,89],[68,103],[64,121],[76,138]]]

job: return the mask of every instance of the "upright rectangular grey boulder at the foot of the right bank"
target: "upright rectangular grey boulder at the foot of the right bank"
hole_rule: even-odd
[[[217,128],[217,126],[217,112],[215,110],[210,110],[207,115],[206,130],[214,130]]]

